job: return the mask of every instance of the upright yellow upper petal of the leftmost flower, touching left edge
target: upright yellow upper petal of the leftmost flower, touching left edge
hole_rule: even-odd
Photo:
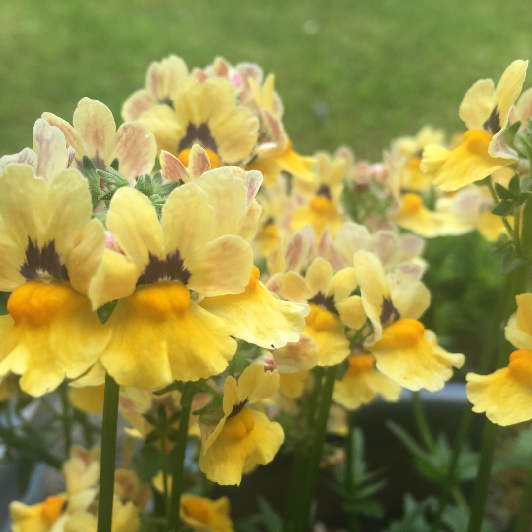
[[[0,176],[0,216],[16,241],[41,242],[49,215],[48,186],[27,164],[10,164]]]

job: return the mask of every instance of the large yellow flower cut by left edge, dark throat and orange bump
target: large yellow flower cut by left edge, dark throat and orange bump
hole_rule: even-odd
[[[21,375],[20,387],[39,396],[87,371],[109,342],[85,295],[105,234],[77,170],[48,185],[10,164],[0,187],[0,290],[12,292],[0,317],[0,376]]]

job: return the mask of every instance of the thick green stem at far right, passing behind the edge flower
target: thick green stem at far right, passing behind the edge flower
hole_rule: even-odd
[[[505,318],[516,310],[516,295],[526,290],[528,280],[528,262],[521,264],[511,274],[511,287],[508,302],[506,305]],[[508,364],[508,357],[513,347],[506,340],[503,340],[497,357],[496,369],[501,369]],[[471,517],[469,520],[468,532],[480,532],[484,519],[484,508],[486,506],[486,496],[488,493],[489,478],[491,477],[493,453],[495,451],[495,439],[497,437],[498,426],[491,421],[484,421],[484,431],[482,435],[482,446],[480,448],[480,461],[478,464],[478,474],[475,482],[475,491],[471,502]]]

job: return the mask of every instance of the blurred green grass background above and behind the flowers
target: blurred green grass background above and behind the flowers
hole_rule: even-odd
[[[216,55],[259,63],[277,74],[297,151],[347,144],[379,161],[423,124],[460,130],[465,90],[532,57],[532,10],[526,0],[2,0],[0,155],[31,146],[44,111],[70,121],[84,96],[119,123],[148,64],[171,53],[191,67]],[[470,234],[427,250],[425,322],[471,363],[503,280],[492,247]]]

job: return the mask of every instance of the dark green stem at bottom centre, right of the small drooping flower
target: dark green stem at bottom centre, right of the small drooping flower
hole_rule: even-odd
[[[325,368],[325,384],[322,388],[317,417],[314,423],[314,438],[309,463],[307,464],[306,483],[302,486],[301,505],[297,508],[296,532],[306,532],[309,529],[310,510],[314,498],[314,491],[318,484],[323,444],[325,443],[327,420],[329,419],[329,408],[332,401],[332,390],[335,379],[336,366]]]

